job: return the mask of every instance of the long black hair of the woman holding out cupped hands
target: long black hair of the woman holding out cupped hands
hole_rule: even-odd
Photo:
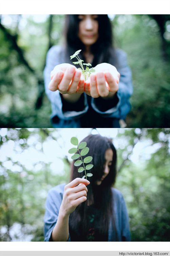
[[[68,14],[66,15],[65,22],[65,39],[66,39],[66,53],[65,59],[66,62],[71,63],[69,56],[73,55],[75,51],[82,49],[82,52],[79,54],[79,57],[84,59],[83,51],[85,45],[81,42],[78,37],[79,32],[79,18],[78,14]],[[112,33],[112,24],[107,14],[98,15],[98,24],[99,24],[99,37],[95,44],[91,46],[91,53],[94,55],[94,60],[92,66],[106,62],[111,65],[116,63],[113,61],[115,58],[114,48],[113,48],[113,33]]]

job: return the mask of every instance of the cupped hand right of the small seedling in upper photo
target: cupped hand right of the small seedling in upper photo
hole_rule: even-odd
[[[112,98],[118,91],[120,74],[117,69],[108,63],[101,63],[95,68],[95,74],[91,74],[85,82],[85,93],[92,98]]]

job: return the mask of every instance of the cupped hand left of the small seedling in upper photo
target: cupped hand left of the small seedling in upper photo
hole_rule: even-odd
[[[51,91],[59,90],[61,94],[84,93],[84,77],[81,71],[71,64],[63,63],[55,66],[51,71],[51,81],[48,88]]]

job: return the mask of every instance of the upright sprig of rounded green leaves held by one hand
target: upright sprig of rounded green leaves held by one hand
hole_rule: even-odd
[[[93,159],[92,156],[87,156],[84,159],[82,159],[82,156],[87,155],[87,153],[89,152],[89,148],[86,147],[87,143],[85,141],[83,141],[79,144],[79,141],[76,137],[72,137],[70,142],[71,142],[71,144],[77,146],[77,148],[76,147],[70,148],[68,153],[69,154],[74,154],[71,157],[71,159],[73,159],[73,160],[76,160],[79,157],[81,158],[81,160],[77,160],[77,161],[74,162],[74,166],[80,166],[80,165],[83,164],[83,167],[79,167],[78,172],[85,171],[85,175],[82,177],[82,179],[84,179],[86,177],[86,180],[87,180],[87,177],[91,177],[92,173],[86,173],[86,171],[90,170],[93,167],[93,165],[90,165],[90,164],[86,165],[86,167],[84,165],[85,163],[91,162],[91,160]],[[77,152],[79,152],[79,153],[77,153]]]

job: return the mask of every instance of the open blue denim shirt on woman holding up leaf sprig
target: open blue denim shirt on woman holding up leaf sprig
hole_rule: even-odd
[[[58,213],[63,200],[64,187],[66,184],[57,185],[50,189],[46,200],[46,212],[44,216],[44,241],[48,242],[52,230],[57,222]],[[108,242],[110,241],[131,241],[129,229],[129,216],[126,208],[125,201],[119,190],[112,188],[113,194],[113,213],[115,219],[116,233],[112,221],[109,223],[108,229]],[[68,242],[71,241],[70,235]]]

